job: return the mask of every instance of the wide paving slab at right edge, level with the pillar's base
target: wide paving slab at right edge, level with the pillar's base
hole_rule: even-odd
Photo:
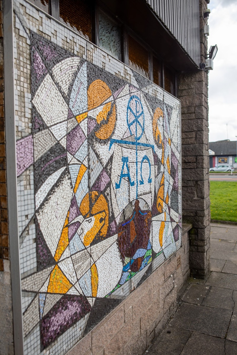
[[[237,275],[212,271],[205,285],[237,290]]]

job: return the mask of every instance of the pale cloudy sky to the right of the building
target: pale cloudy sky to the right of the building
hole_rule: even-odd
[[[217,44],[209,72],[209,141],[236,140],[237,135],[237,0],[211,0],[208,49]],[[226,126],[227,124],[227,126]]]

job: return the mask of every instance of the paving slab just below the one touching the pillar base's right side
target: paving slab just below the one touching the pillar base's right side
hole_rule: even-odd
[[[212,286],[201,305],[233,310],[234,301],[232,294],[233,290]]]

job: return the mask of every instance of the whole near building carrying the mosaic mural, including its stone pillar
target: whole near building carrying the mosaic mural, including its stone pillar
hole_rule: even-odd
[[[209,274],[207,3],[0,1],[3,353],[143,354]]]

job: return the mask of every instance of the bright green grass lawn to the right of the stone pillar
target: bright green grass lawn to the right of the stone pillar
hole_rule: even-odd
[[[211,219],[237,222],[237,182],[210,181]]]

